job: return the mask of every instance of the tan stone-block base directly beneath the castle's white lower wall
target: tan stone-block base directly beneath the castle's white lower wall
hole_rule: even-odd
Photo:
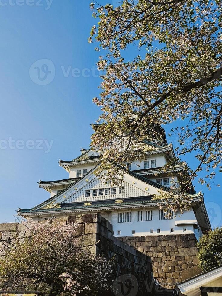
[[[201,273],[194,234],[120,237],[124,243],[151,257],[153,276],[162,284],[176,283]],[[167,286],[169,288],[169,285]]]

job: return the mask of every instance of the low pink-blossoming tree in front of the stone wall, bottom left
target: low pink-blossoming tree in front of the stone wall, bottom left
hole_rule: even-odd
[[[19,231],[0,259],[0,288],[24,288],[50,295],[98,295],[110,288],[113,262],[93,256],[75,236],[76,224],[64,221],[23,222],[31,237]]]

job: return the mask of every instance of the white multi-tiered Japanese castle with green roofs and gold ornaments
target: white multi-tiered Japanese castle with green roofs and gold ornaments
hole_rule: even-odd
[[[69,173],[67,179],[38,182],[39,187],[49,192],[49,199],[31,209],[19,208],[18,215],[41,221],[100,213],[113,225],[114,236],[194,233],[198,240],[203,232],[211,229],[203,194],[196,193],[190,184],[191,207],[180,217],[165,213],[164,207],[170,199],[154,196],[159,195],[160,190],[169,193],[171,182],[180,182],[181,175],[187,172],[184,164],[176,164],[167,172],[162,169],[175,159],[175,153],[172,144],[166,141],[164,129],[157,128],[159,138],[149,142],[152,150],[145,152],[146,158],[142,162],[126,164],[128,169],[124,170],[121,186],[107,184],[96,177],[94,171],[100,165],[99,153],[94,147],[81,149],[75,159],[59,160],[59,166]]]

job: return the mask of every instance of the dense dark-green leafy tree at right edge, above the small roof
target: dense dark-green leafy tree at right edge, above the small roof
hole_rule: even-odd
[[[202,271],[222,264],[222,227],[204,234],[197,243],[198,258]]]

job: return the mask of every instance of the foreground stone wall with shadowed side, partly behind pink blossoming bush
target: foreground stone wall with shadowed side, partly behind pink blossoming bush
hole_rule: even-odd
[[[151,293],[150,284],[153,282],[153,273],[150,257],[114,237],[112,225],[99,214],[69,216],[67,219],[69,223],[78,223],[76,235],[93,254],[105,254],[108,259],[114,256],[115,289],[122,288],[127,293],[129,288],[124,285],[127,281],[131,281],[133,288],[130,289],[134,289],[131,294],[145,296]],[[30,236],[30,232],[22,224],[0,224],[0,256],[5,255],[7,243],[13,240],[13,232],[17,229],[21,240]],[[114,295],[112,292],[111,294]],[[121,294],[123,293],[118,295]]]

